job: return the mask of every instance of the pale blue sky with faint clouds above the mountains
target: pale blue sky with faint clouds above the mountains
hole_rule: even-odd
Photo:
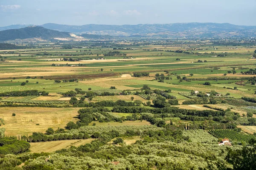
[[[0,0],[0,26],[231,23],[256,26],[256,0]]]

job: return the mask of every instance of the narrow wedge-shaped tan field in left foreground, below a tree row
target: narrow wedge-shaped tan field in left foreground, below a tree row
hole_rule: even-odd
[[[74,139],[74,140],[61,140],[61,141],[51,141],[51,142],[35,142],[30,143],[31,153],[41,153],[41,152],[54,152],[56,150],[69,148],[70,146],[80,146],[82,144],[87,144],[94,139]]]

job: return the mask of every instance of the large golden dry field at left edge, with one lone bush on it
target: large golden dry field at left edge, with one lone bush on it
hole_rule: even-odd
[[[1,108],[0,118],[5,122],[1,127],[6,129],[5,135],[8,136],[31,135],[32,132],[45,133],[49,127],[64,128],[68,122],[76,122],[78,119],[74,117],[78,115],[78,110],[79,108]],[[12,113],[16,116],[12,116]]]

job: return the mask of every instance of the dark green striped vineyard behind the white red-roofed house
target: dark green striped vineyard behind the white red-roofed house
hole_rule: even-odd
[[[209,130],[209,134],[216,138],[228,138],[231,141],[238,141],[238,142],[249,142],[250,139],[254,138],[256,139],[255,136],[252,135],[245,135],[242,133],[238,133],[235,130]]]

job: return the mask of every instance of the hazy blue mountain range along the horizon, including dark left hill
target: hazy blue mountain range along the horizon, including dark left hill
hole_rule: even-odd
[[[0,41],[28,38],[42,40],[111,39],[116,36],[132,38],[256,37],[256,26],[236,26],[229,23],[173,23],[122,26],[89,24],[70,26],[47,23],[41,26],[12,25],[0,27]]]

